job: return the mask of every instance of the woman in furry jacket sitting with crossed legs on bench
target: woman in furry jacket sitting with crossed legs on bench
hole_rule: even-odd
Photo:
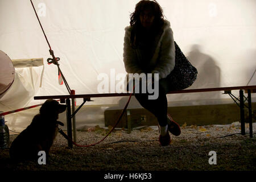
[[[134,13],[130,15],[130,26],[125,28],[123,45],[123,61],[127,73],[152,73],[159,76],[158,98],[150,100],[150,94],[141,91],[134,95],[158,119],[159,142],[167,146],[171,142],[168,131],[175,136],[181,133],[179,124],[167,113],[166,97],[168,92],[179,89],[179,86],[172,85],[168,79],[175,67],[175,43],[170,22],[163,19],[163,10],[156,1],[142,0],[137,3]],[[147,84],[154,83],[154,76],[146,80]],[[142,81],[139,81],[139,85],[139,88],[143,86]],[[127,90],[128,87],[129,84]]]

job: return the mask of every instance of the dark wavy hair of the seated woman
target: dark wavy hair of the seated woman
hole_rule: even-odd
[[[163,10],[162,7],[158,4],[158,2],[156,2],[155,0],[139,1],[135,6],[135,11],[130,14],[130,26],[133,28],[131,31],[130,43],[133,48],[137,47],[137,43],[139,41],[139,34],[142,33],[142,25],[139,16],[141,15],[141,13],[143,13],[144,10],[150,10],[151,13],[155,16],[152,26],[152,30],[154,33],[157,33],[164,24]]]

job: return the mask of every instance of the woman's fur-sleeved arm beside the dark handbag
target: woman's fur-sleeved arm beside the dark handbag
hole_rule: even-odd
[[[166,78],[175,67],[174,35],[171,27],[166,28],[160,42],[159,60],[151,73],[159,73],[159,79]]]

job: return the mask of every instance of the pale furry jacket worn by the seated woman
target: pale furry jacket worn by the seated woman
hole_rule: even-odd
[[[125,28],[125,38],[123,43],[123,62],[127,73],[144,73],[139,66],[142,61],[142,52],[137,48],[133,49],[130,43],[131,26]],[[158,40],[158,41],[157,41]],[[156,39],[151,60],[148,60],[147,66],[151,68],[151,73],[159,73],[159,80],[166,78],[175,66],[175,46],[174,36],[170,22],[164,20],[159,39]],[[128,74],[127,74],[128,77]],[[130,80],[129,80],[130,81]]]

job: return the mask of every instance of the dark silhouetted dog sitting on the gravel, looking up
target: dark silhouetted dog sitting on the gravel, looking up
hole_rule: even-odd
[[[16,137],[10,147],[10,157],[16,162],[38,159],[38,152],[45,151],[49,155],[58,132],[59,113],[63,113],[66,105],[55,100],[47,100],[40,107],[40,114],[35,115],[31,124]]]

